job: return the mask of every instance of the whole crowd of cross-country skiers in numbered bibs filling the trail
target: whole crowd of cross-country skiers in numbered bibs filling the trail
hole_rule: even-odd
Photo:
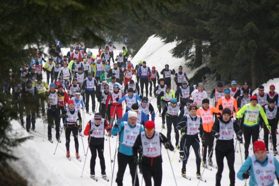
[[[118,186],[123,185],[127,164],[131,185],[139,186],[138,169],[145,185],[152,185],[152,178],[155,186],[161,185],[162,144],[174,151],[174,156],[178,152],[179,162],[182,162],[181,175],[189,180],[186,164],[193,148],[199,181],[206,181],[202,177],[205,169],[216,168],[215,185],[220,186],[226,157],[230,186],[234,186],[236,146],[239,145],[241,154],[243,142],[245,162],[237,172],[237,178],[245,180],[245,184],[250,178],[249,185],[273,185],[278,180],[279,164],[273,155],[278,154],[279,103],[274,85],[269,87],[269,91],[260,85],[258,92],[252,95],[247,82],[238,87],[237,82],[232,80],[231,87],[227,89],[222,82],[218,82],[217,88],[208,96],[203,82],[189,85],[182,66],[176,72],[166,64],[159,72],[155,66],[148,67],[148,62],[138,61],[134,68],[125,47],[114,59],[116,47],[108,39],[96,56],[81,43],[70,47],[66,55],[61,47],[61,42],[55,40],[48,60],[40,53],[32,56],[31,63],[23,64],[16,72],[18,78],[13,79],[14,83],[8,90],[12,89],[14,99],[38,98],[33,103],[19,102],[16,105],[20,108],[20,123],[32,134],[36,132],[36,115],[42,115],[44,125],[47,125],[47,138],[53,143],[54,129],[57,145],[61,143],[64,130],[66,157],[69,160],[71,133],[78,160],[78,136],[89,136],[92,179],[97,180],[95,160],[98,153],[102,178],[108,181],[104,158],[104,136],[107,135],[110,155],[113,156],[109,160],[112,173],[117,156],[118,170],[115,180],[112,174],[112,182],[115,181]],[[209,97],[214,100],[212,103]],[[151,104],[152,99],[157,100],[157,108]],[[162,118],[162,130],[166,127],[166,136],[162,130],[155,130],[157,113]],[[85,114],[91,115],[92,119],[84,121]],[[82,121],[87,124],[82,126]],[[264,135],[263,141],[260,141],[262,129]],[[112,136],[117,136],[119,146],[110,144]],[[174,138],[175,146],[172,144]],[[254,153],[249,155],[251,138]],[[269,149],[272,151],[269,152]],[[212,159],[214,153],[216,165]],[[173,158],[169,157],[170,162]],[[172,167],[171,170],[177,171]]]

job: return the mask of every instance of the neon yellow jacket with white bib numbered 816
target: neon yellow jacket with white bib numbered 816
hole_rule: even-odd
[[[265,125],[268,125],[268,120],[266,114],[264,113],[263,108],[257,104],[255,107],[252,106],[251,103],[245,104],[240,110],[238,110],[236,114],[236,118],[243,117],[244,114],[244,122],[245,126],[256,126],[259,124],[259,114],[262,116]]]

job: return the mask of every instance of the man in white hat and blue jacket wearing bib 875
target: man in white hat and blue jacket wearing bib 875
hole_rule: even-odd
[[[139,179],[136,174],[136,165],[133,159],[132,147],[135,143],[137,136],[144,132],[142,125],[137,123],[137,113],[131,111],[128,115],[128,121],[121,122],[121,119],[117,119],[116,124],[113,126],[111,135],[120,136],[120,143],[117,153],[118,171],[116,176],[116,183],[118,186],[122,186],[124,172],[126,170],[127,164],[130,168],[130,173],[132,177],[132,184],[139,186]],[[136,177],[136,178],[135,178]]]

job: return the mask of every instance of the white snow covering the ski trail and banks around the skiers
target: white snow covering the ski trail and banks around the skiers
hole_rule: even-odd
[[[171,54],[168,53],[170,49],[172,49],[175,45],[175,43],[167,43],[165,45],[159,44],[160,40],[158,38],[150,37],[148,41],[145,43],[143,48],[139,51],[139,53],[132,59],[133,64],[135,65],[138,60],[145,60],[147,61],[148,66],[155,66],[156,69],[161,70],[164,68],[164,65],[168,63],[170,65],[171,69],[178,69],[179,65],[184,66],[184,61],[182,59],[174,59],[171,57]],[[121,48],[119,48],[121,49]],[[67,53],[69,49],[63,49],[64,54]],[[93,54],[97,54],[97,49],[91,49]],[[118,51],[117,51],[118,52]],[[116,54],[115,54],[116,56]],[[185,67],[185,66],[184,66]],[[186,73],[193,75],[194,72],[187,71]],[[189,78],[191,77],[189,75]],[[276,87],[279,86],[279,79],[273,79],[267,82],[267,85],[263,85],[268,89],[268,86],[270,84],[274,84]],[[266,90],[267,91],[267,90]],[[150,103],[155,108],[155,111],[157,111],[156,108],[156,99],[150,100]],[[91,106],[89,106],[90,112],[91,112]],[[124,108],[125,109],[125,108]],[[85,114],[85,120],[84,124],[93,117],[92,115]],[[161,131],[162,130],[162,118],[158,116],[158,114],[155,117],[155,123],[156,123],[156,130]],[[61,122],[62,124],[62,122]],[[19,124],[18,121],[14,121],[12,123],[14,132],[18,132],[18,135],[29,135]],[[46,124],[47,126],[47,124]],[[83,127],[84,128],[84,127]],[[14,149],[15,155],[19,157],[19,160],[16,162],[10,162],[11,166],[19,172],[20,175],[22,175],[25,179],[28,180],[29,185],[37,186],[37,185],[45,185],[45,186],[87,186],[87,185],[104,185],[109,186],[111,185],[111,179],[112,179],[112,171],[111,171],[111,165],[110,160],[113,158],[115,147],[117,144],[116,137],[110,138],[110,140],[104,141],[104,158],[106,163],[106,173],[109,178],[109,182],[106,182],[104,179],[98,179],[98,182],[95,182],[92,180],[90,176],[90,158],[91,153],[90,150],[88,150],[88,155],[85,162],[85,153],[82,147],[82,138],[79,136],[79,153],[82,159],[82,162],[78,162],[74,158],[75,154],[75,148],[74,148],[74,141],[73,136],[71,136],[71,142],[70,142],[70,154],[72,157],[72,160],[69,161],[66,158],[66,147],[65,147],[65,134],[64,131],[61,135],[61,143],[58,144],[57,151],[54,155],[56,143],[54,141],[53,144],[51,144],[49,141],[47,141],[47,128],[44,133],[44,124],[41,118],[36,119],[36,133],[32,133],[31,136],[33,136],[32,140],[28,140],[21,144],[19,147],[16,147]],[[166,129],[162,130],[162,133],[166,135]],[[45,135],[44,141],[43,141],[43,135]],[[171,136],[174,135],[174,131],[172,131]],[[52,130],[52,136],[54,139],[55,137],[55,130]],[[263,131],[261,131],[260,134],[261,139],[263,139]],[[105,136],[105,139],[107,137]],[[109,141],[110,141],[110,148],[109,148]],[[86,151],[87,149],[87,137],[83,137],[83,144],[84,149]],[[172,141],[172,144],[175,144],[175,141]],[[244,146],[243,144],[240,145],[241,152],[242,152],[242,158],[244,158]],[[251,148],[251,146],[250,146]],[[110,156],[110,149],[111,149],[111,155]],[[239,145],[237,144],[236,150],[238,153],[235,153],[235,171],[239,170],[241,166],[241,156],[240,156],[240,149]],[[253,151],[250,150],[250,154],[252,154]],[[169,152],[170,158],[174,156],[174,152]],[[168,155],[166,153],[166,149],[162,148],[162,170],[163,170],[163,178],[162,178],[162,186],[170,186],[175,185],[174,177],[170,168],[170,161],[168,158]],[[278,156],[277,156],[278,158]],[[186,166],[186,174],[191,178],[191,181],[183,178],[181,176],[181,168],[182,163],[179,163],[179,153],[175,154],[174,160],[172,163],[172,167],[175,174],[175,179],[177,182],[177,185],[184,186],[184,185],[197,185],[198,179],[196,179],[196,163],[195,163],[195,154],[193,151],[190,153],[190,157],[188,159],[188,163]],[[243,160],[244,161],[244,160]],[[85,162],[85,168],[82,174],[82,168]],[[216,166],[216,160],[215,160],[215,153],[213,153],[213,164]],[[113,166],[113,164],[112,164]],[[201,169],[202,171],[203,169]],[[200,182],[200,186],[208,186],[208,185],[215,185],[215,174],[217,172],[217,169],[212,168],[212,170],[206,169],[204,171],[204,174],[202,176],[203,179],[206,179],[206,183]],[[100,177],[101,170],[100,170],[100,163],[99,159],[97,157],[96,159],[96,166],[95,166],[95,173],[97,177]],[[117,185],[115,183],[117,173],[117,158],[115,162],[114,167],[114,175],[113,175],[113,184]],[[227,162],[224,160],[224,171],[222,174],[222,181],[221,185],[229,185],[229,171],[227,167]],[[139,176],[139,183],[142,184],[142,175],[138,174]],[[126,167],[126,172],[124,174],[124,185],[132,185],[131,184],[131,176],[128,166]],[[144,183],[142,185],[145,185]],[[236,179],[236,186],[244,185],[244,181],[240,181]]]

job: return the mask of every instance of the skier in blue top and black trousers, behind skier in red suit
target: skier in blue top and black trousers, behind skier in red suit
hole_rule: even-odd
[[[92,77],[92,73],[88,72],[88,77],[85,78],[82,82],[82,93],[85,93],[85,109],[86,113],[89,114],[89,98],[91,96],[92,101],[92,112],[95,113],[95,89],[94,86],[97,87],[98,82]]]

